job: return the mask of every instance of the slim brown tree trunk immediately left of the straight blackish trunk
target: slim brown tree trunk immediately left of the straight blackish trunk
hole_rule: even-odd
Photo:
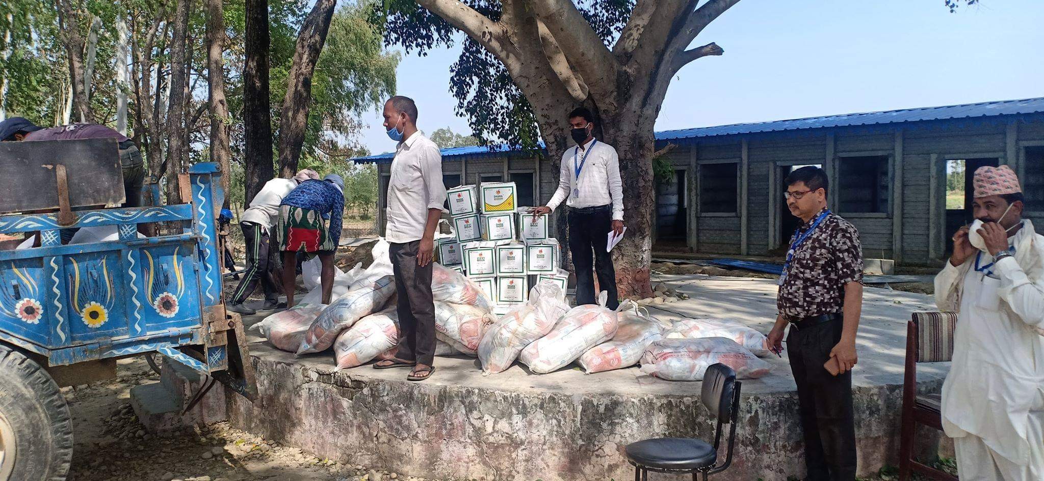
[[[228,43],[224,34],[224,7],[221,0],[207,0],[207,76],[210,92],[210,161],[221,168],[224,205],[229,207],[232,179],[229,150],[229,102],[224,98],[224,63],[221,53]]]

